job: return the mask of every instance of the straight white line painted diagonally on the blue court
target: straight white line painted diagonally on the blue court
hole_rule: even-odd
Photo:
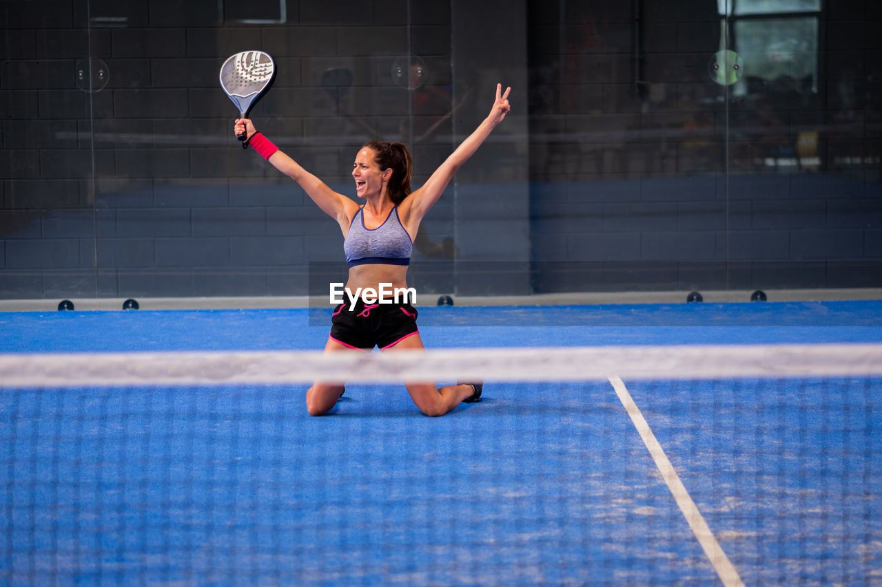
[[[726,585],[726,587],[744,587],[744,582],[741,580],[741,577],[738,576],[738,571],[729,561],[729,557],[726,556],[726,553],[722,551],[720,543],[717,542],[714,533],[705,522],[705,518],[701,516],[698,507],[696,507],[695,502],[692,501],[689,492],[686,491],[683,481],[681,481],[680,476],[676,474],[674,465],[670,463],[668,456],[664,454],[662,445],[656,440],[647,420],[643,417],[643,414],[640,413],[637,404],[634,403],[627,388],[624,387],[624,383],[622,383],[622,380],[618,375],[609,375],[609,383],[612,383],[613,389],[616,390],[616,395],[622,402],[622,405],[624,405],[625,411],[631,416],[634,427],[637,427],[640,438],[642,438],[643,443],[647,445],[649,454],[652,455],[653,460],[655,461],[655,466],[658,467],[659,472],[662,473],[662,479],[668,484],[670,493],[674,495],[676,505],[678,505],[680,511],[683,512],[686,522],[689,523],[689,527],[692,529],[692,533],[695,534],[695,538],[699,540],[699,544],[704,549],[711,564],[714,565],[714,570],[717,575],[720,576],[722,583]]]

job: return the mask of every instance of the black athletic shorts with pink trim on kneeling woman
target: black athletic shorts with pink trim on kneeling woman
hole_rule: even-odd
[[[333,309],[331,338],[350,348],[381,349],[399,343],[419,332],[416,328],[416,308],[410,304],[369,304],[359,298],[355,308],[350,302]]]

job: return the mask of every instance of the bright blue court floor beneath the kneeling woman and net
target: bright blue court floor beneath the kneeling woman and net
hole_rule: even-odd
[[[882,341],[879,301],[419,312],[430,348]],[[0,313],[0,353],[313,350],[329,316]],[[624,385],[736,579],[882,583],[877,377]],[[403,385],[321,418],[304,391],[0,390],[4,583],[725,581],[609,381],[488,382],[437,419]]]

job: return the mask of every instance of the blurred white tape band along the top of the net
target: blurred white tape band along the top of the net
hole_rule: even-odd
[[[0,388],[882,375],[882,344],[0,354]]]

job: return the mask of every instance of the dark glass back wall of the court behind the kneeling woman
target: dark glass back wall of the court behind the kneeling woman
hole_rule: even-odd
[[[512,86],[415,235],[418,292],[876,288],[880,19],[869,0],[3,2],[0,301],[289,303],[345,275],[337,223],[233,136],[219,70],[247,49],[277,67],[258,129],[354,198],[366,140],[406,143],[417,187]]]

